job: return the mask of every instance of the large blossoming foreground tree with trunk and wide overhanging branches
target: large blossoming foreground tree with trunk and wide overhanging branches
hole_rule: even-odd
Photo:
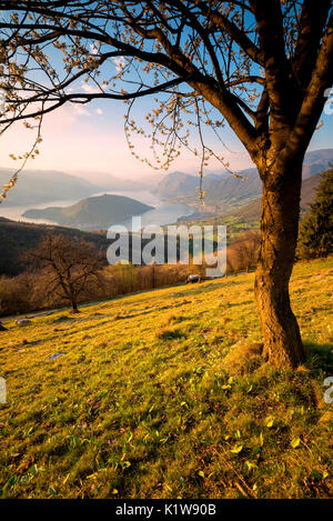
[[[3,129],[21,119],[31,126],[68,102],[118,99],[127,102],[125,132],[138,156],[130,131],[145,130],[130,117],[134,101],[159,93],[147,132],[162,153],[157,167],[168,168],[179,146],[191,147],[190,130],[182,128],[189,119],[199,134],[202,176],[211,157],[223,162],[205,144],[203,122],[214,131],[231,127],[263,184],[254,288],[263,355],[276,367],[302,363],[289,281],[303,158],[332,84],[332,1],[3,0],[0,10]]]

